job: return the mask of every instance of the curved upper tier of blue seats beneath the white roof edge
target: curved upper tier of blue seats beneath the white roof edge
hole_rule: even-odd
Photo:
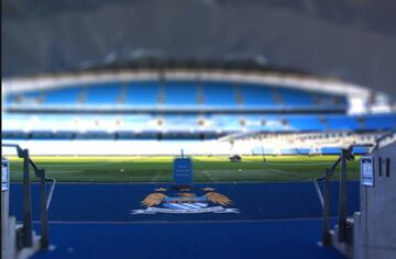
[[[246,106],[345,109],[345,98],[289,88],[229,82],[157,81],[74,86],[11,94],[7,105],[42,106]]]

